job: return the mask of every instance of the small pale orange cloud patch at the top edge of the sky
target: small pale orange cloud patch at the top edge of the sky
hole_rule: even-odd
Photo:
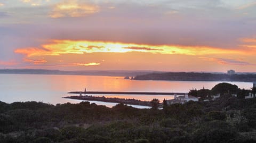
[[[99,6],[87,3],[78,3],[77,1],[65,1],[54,6],[50,13],[51,18],[62,17],[81,17],[87,14],[99,12]]]

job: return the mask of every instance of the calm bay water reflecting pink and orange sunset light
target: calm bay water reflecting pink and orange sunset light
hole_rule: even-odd
[[[220,82],[207,81],[141,81],[125,80],[124,77],[85,76],[85,75],[37,75],[37,74],[0,74],[0,100],[6,103],[37,101],[50,104],[79,103],[81,100],[65,99],[69,91],[159,91],[188,92],[196,88],[211,89]],[[250,82],[229,82],[239,88],[250,89]],[[101,95],[102,96],[102,95]],[[151,95],[104,95],[106,97],[135,98],[151,100],[172,99],[173,96]],[[92,103],[92,102],[91,102]],[[106,106],[113,103],[93,102]]]

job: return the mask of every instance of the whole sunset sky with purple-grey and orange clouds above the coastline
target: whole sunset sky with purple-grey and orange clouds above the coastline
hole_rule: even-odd
[[[255,26],[255,0],[0,0],[0,69],[256,72]]]

